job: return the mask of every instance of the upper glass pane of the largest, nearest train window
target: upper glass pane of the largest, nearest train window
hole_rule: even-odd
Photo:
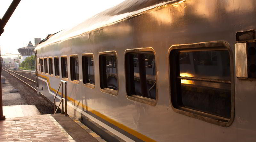
[[[180,76],[230,81],[228,51],[180,52]]]

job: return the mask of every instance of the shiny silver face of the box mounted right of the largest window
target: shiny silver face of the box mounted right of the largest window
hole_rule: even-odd
[[[235,44],[236,77],[248,78],[246,43]]]

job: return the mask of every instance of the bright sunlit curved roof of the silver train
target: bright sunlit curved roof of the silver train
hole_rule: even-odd
[[[58,41],[67,40],[100,27],[129,19],[133,16],[138,16],[144,11],[153,9],[155,7],[179,1],[184,0],[126,0],[112,8],[92,16],[89,19],[86,19],[84,22],[75,27],[62,30],[55,34],[49,34],[46,40],[44,39],[40,41],[40,44],[36,47],[36,49]]]

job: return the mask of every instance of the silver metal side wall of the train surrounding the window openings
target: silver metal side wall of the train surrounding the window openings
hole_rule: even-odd
[[[102,127],[107,130],[112,127],[111,131],[115,130],[113,133],[126,141],[131,141],[127,137],[132,135],[130,138],[159,142],[254,142],[256,81],[232,76],[235,83],[236,109],[234,122],[229,127],[176,113],[170,103],[172,94],[168,73],[168,49],[177,44],[225,41],[230,45],[231,57],[235,59],[236,32],[256,29],[255,13],[255,0],[246,0],[246,3],[244,0],[186,0],[176,5],[167,4],[153,8],[136,17],[129,17],[127,20],[120,20],[107,26],[104,26],[104,20],[111,22],[120,15],[99,16],[98,20],[93,19],[98,22],[92,24],[95,28],[88,27],[91,21],[86,21],[74,28],[63,30],[53,35],[52,39],[39,44],[36,47],[37,57],[59,56],[60,59],[62,55],[68,56],[70,77],[69,56],[77,54],[79,66],[82,66],[82,54],[92,53],[95,59],[95,88],[84,86],[83,69],[79,67],[79,84],[72,83],[70,79],[67,83],[68,114],[79,117],[78,113],[88,113],[86,116],[90,116],[90,119],[95,118],[93,121],[96,123],[104,120],[104,123],[101,123]],[[73,36],[74,34],[76,36]],[[152,47],[156,52],[158,97],[155,106],[130,100],[126,95],[124,53],[127,49],[143,47]],[[101,92],[99,53],[106,51],[116,51],[117,54],[117,95]],[[235,64],[234,61],[232,64]],[[235,67],[231,70],[235,70]],[[60,77],[39,72],[39,77],[41,76],[48,78],[50,87],[49,90],[45,88],[46,78],[44,81],[39,79],[39,88],[44,87],[44,90],[39,91],[53,100],[52,94],[61,80],[61,71]]]

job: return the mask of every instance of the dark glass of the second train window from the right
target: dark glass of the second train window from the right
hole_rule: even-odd
[[[156,64],[153,52],[127,53],[128,95],[156,99]]]

